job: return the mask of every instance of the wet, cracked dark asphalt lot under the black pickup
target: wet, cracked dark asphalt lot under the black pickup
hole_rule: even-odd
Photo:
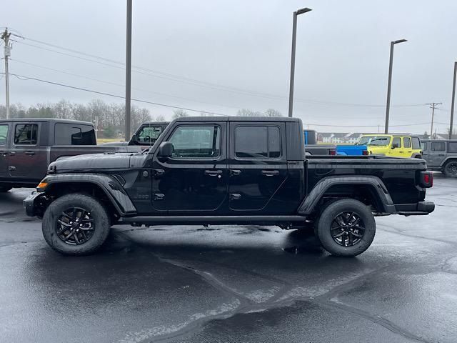
[[[0,194],[1,342],[457,342],[457,180],[359,257],[276,227],[114,227],[64,257]]]

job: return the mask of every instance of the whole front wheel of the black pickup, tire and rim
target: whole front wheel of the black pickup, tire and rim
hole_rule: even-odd
[[[52,202],[42,231],[49,246],[66,255],[95,252],[109,234],[109,217],[99,201],[86,194],[67,194]]]

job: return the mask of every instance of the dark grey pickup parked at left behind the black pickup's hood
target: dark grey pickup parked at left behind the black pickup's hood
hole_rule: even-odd
[[[96,146],[94,126],[86,121],[1,119],[0,192],[36,186],[49,163],[62,156],[139,150]]]

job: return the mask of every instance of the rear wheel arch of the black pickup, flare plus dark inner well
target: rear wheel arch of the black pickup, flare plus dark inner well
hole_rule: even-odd
[[[381,179],[375,176],[364,177],[326,177],[303,199],[298,214],[311,215],[318,211],[323,203],[332,199],[356,199],[367,206],[373,206],[380,214],[396,212],[390,194]]]

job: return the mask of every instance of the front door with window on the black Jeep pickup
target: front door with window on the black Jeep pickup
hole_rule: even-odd
[[[154,156],[153,208],[169,214],[221,212],[227,195],[226,122],[179,124],[165,138],[174,146],[165,160]]]

